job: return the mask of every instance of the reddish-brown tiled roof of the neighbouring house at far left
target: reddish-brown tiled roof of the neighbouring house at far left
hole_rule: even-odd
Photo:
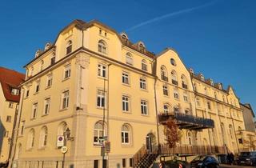
[[[9,70],[0,66],[0,82],[3,94],[7,101],[19,102],[19,95],[11,94],[13,88],[19,89],[19,85],[25,81],[25,74],[15,70]]]

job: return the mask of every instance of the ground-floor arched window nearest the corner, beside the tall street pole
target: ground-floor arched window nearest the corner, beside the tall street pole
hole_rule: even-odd
[[[104,126],[103,131],[103,122],[96,122],[94,125],[94,144],[102,144],[103,137],[106,135],[106,126]]]

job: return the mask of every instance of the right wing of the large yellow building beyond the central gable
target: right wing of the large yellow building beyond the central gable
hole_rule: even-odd
[[[223,89],[222,83],[214,83],[203,74],[190,69],[194,86],[196,114],[214,120],[214,128],[198,134],[205,144],[226,146],[227,152],[238,153],[237,131],[244,130],[242,109],[231,86]]]

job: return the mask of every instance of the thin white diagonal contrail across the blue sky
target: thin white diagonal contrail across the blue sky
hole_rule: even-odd
[[[192,8],[185,9],[185,10],[178,10],[178,11],[172,12],[170,14],[165,14],[165,15],[162,15],[162,16],[159,16],[159,17],[156,17],[156,18],[152,18],[152,19],[150,19],[148,21],[141,22],[138,25],[132,26],[129,29],[127,29],[126,31],[131,31],[131,30],[138,29],[141,26],[148,25],[148,24],[150,24],[152,22],[157,22],[157,21],[162,20],[164,18],[170,18],[170,17],[174,17],[174,16],[177,16],[177,15],[180,15],[180,14],[186,14],[186,13],[189,13],[189,12],[194,11],[194,10],[199,10],[199,9],[202,9],[202,8],[204,8],[206,6],[213,5],[214,2],[217,2],[217,0],[209,2],[209,3],[206,3],[206,4],[202,5],[202,6],[195,6],[195,7],[192,7]]]

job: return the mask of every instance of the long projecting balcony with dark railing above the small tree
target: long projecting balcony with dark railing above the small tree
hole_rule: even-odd
[[[158,121],[166,124],[168,119],[176,119],[180,129],[202,130],[206,128],[214,128],[214,120],[209,118],[200,118],[194,115],[182,114],[174,112],[170,114],[158,114]]]

